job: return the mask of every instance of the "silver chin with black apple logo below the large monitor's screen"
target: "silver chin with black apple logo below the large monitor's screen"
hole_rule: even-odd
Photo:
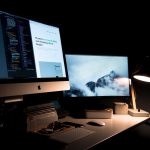
[[[15,97],[27,94],[69,90],[69,81],[0,84],[0,97]]]

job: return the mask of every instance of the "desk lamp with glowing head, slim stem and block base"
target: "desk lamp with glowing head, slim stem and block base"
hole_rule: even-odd
[[[150,83],[150,72],[149,72],[148,64],[149,64],[148,61],[145,61],[144,65],[140,66],[139,69],[133,74],[133,78]],[[129,114],[134,117],[149,117],[149,112],[146,112],[142,109],[137,109],[136,94],[131,80],[130,80],[130,85],[131,85],[131,98],[132,98],[133,108],[129,109],[128,111]]]

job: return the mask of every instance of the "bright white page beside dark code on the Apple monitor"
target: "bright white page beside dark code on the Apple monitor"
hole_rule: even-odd
[[[37,77],[66,77],[59,28],[29,23]]]

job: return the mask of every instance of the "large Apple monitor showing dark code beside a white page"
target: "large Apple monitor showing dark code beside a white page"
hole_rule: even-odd
[[[0,12],[0,97],[67,89],[59,28]]]

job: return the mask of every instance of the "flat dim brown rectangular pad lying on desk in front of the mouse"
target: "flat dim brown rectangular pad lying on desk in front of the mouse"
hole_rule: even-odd
[[[51,135],[50,139],[69,144],[86,136],[89,136],[94,132],[95,131],[85,128],[73,128],[67,131],[57,132],[56,134]]]

